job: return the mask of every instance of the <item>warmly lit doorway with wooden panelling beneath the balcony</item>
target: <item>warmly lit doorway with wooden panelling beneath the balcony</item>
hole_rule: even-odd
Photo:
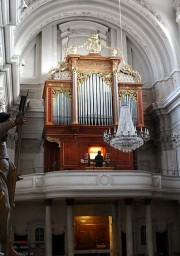
[[[111,216],[74,217],[75,255],[110,255],[112,243]]]

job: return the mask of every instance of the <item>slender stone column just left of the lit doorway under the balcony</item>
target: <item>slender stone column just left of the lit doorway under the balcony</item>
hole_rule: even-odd
[[[66,204],[67,204],[67,224],[66,224],[67,256],[74,256],[74,218],[73,218],[74,199],[67,199]]]

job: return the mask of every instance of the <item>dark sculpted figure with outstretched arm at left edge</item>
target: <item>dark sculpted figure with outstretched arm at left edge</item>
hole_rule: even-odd
[[[0,113],[0,244],[5,256],[20,256],[12,247],[12,211],[17,172],[7,153],[7,132],[25,122],[25,117],[10,120],[10,114]]]

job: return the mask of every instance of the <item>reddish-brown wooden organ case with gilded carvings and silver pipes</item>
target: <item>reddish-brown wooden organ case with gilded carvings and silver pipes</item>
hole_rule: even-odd
[[[134,152],[112,148],[104,142],[103,133],[118,125],[124,100],[130,104],[135,125],[144,127],[140,76],[128,65],[119,70],[121,56],[102,56],[99,40],[94,45],[86,45],[88,55],[78,55],[73,49],[45,81],[46,171],[94,169],[92,148],[103,153],[102,169],[135,169]]]

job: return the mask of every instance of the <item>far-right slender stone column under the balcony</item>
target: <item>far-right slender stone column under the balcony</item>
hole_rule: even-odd
[[[146,250],[147,256],[154,255],[151,199],[145,199],[146,206]]]

